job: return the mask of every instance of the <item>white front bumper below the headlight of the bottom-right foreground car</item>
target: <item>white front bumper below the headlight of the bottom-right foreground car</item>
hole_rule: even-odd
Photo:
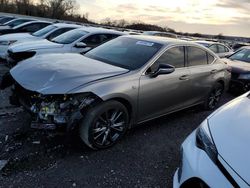
[[[196,131],[182,144],[182,165],[177,169],[173,187],[185,187],[189,180],[204,182],[208,187],[232,187],[205,151],[196,147]]]

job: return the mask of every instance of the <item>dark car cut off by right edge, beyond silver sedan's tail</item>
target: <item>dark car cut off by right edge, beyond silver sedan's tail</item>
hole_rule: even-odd
[[[250,90],[250,46],[245,46],[224,59],[231,67],[230,90],[247,92]]]

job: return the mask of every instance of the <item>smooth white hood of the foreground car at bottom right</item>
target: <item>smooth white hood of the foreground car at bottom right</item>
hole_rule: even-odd
[[[250,184],[250,99],[228,103],[208,121],[218,153]]]

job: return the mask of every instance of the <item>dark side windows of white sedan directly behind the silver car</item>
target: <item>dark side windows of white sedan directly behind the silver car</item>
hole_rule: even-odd
[[[95,34],[82,40],[87,46],[96,47],[114,38],[111,34]]]

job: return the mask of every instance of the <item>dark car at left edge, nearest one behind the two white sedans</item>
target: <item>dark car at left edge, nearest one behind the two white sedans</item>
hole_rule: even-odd
[[[18,26],[8,28],[8,29],[1,29],[0,35],[10,34],[10,33],[33,33],[36,32],[44,27],[50,25],[51,22],[45,21],[30,21],[20,24]]]

